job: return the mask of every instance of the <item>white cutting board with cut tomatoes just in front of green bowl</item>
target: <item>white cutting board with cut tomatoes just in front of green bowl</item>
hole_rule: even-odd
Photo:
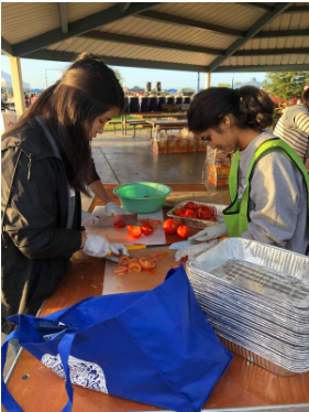
[[[102,216],[104,214],[104,206],[95,207],[92,214],[96,216]],[[163,223],[163,212],[162,209],[150,213],[150,214],[139,214],[137,219],[151,219],[161,220]],[[122,243],[124,246],[129,245],[165,245],[165,232],[162,225],[157,225],[156,229],[151,236],[142,235],[140,238],[133,238],[126,227],[122,229],[113,229],[112,227],[89,227],[87,232],[95,236],[104,237],[110,243]]]

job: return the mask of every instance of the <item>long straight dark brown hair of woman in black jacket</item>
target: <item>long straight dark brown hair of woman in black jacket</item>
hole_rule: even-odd
[[[112,108],[124,109],[124,95],[114,72],[100,58],[84,53],[60,80],[38,96],[5,134],[41,116],[57,144],[69,184],[88,195],[86,183],[91,181],[91,126],[98,116]]]

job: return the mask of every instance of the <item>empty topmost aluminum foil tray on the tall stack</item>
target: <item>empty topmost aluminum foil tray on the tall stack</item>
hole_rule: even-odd
[[[302,254],[230,238],[189,259],[187,268],[249,300],[309,319],[309,258]]]

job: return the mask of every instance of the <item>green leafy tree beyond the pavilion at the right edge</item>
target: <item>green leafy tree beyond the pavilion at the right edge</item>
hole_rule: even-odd
[[[300,97],[309,83],[309,72],[271,72],[264,80],[264,87],[271,97],[289,100]]]

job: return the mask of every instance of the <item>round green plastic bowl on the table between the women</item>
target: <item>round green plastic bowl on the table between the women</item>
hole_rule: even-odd
[[[159,210],[170,192],[170,187],[152,182],[128,183],[113,189],[113,193],[120,198],[121,206],[132,213]]]

